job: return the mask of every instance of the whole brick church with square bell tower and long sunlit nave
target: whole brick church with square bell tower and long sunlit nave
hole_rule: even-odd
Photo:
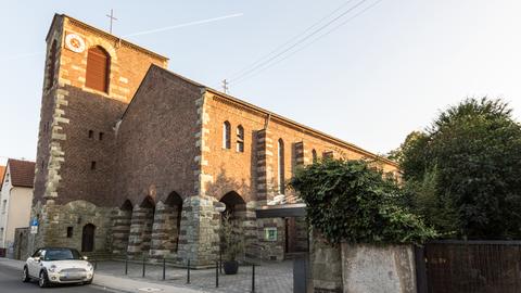
[[[243,228],[246,256],[280,260],[307,249],[304,220],[257,212],[297,203],[284,184],[296,167],[367,157],[397,171],[392,161],[171,73],[167,58],[73,17],[56,14],[46,41],[31,211],[39,228],[29,250],[206,265],[218,251],[221,202]]]

